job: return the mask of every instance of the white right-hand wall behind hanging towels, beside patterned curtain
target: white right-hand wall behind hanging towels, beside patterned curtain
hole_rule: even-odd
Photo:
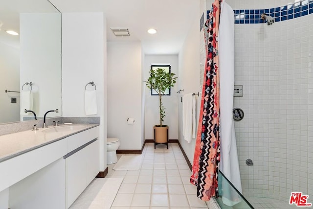
[[[200,92],[200,35],[199,35],[199,16],[193,17],[194,22],[189,29],[189,33],[185,39],[184,45],[179,52],[179,89],[183,89],[184,91],[179,94],[178,99],[178,108],[179,108],[179,143],[181,144],[184,152],[186,153],[188,160],[190,163],[193,162],[194,151],[196,139],[192,139],[190,143],[184,140],[182,136],[182,102],[180,102],[180,97],[186,93],[198,93]],[[203,30],[201,30],[201,33]],[[203,37],[203,35],[202,35]],[[201,92],[200,94],[201,95]],[[197,108],[197,117],[196,123],[198,127],[199,121],[199,106],[201,102],[201,97],[195,95],[196,100],[196,108]],[[197,129],[196,129],[197,130]]]

